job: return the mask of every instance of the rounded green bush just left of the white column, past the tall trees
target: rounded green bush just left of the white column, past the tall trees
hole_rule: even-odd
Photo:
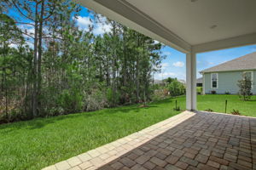
[[[182,82],[178,82],[176,79],[174,79],[169,85],[168,89],[170,94],[175,97],[179,95],[183,95],[186,92],[185,86]]]

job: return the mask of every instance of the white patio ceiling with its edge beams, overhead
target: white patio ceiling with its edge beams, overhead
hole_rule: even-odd
[[[256,43],[255,0],[78,0],[184,53]]]

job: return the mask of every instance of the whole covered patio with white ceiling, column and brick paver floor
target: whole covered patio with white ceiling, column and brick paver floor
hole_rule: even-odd
[[[196,111],[196,54],[256,44],[256,1],[77,2],[186,54],[188,111],[44,170],[256,168],[256,118]]]

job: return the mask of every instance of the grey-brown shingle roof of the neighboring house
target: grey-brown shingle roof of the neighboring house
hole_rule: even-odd
[[[256,70],[256,52],[241,56],[237,59],[224,62],[223,64],[213,66],[206,70],[200,71],[205,72],[218,72],[218,71],[247,71]]]

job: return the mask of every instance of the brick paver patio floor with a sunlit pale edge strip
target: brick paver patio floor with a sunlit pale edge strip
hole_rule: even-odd
[[[256,118],[184,111],[49,169],[256,169]]]

